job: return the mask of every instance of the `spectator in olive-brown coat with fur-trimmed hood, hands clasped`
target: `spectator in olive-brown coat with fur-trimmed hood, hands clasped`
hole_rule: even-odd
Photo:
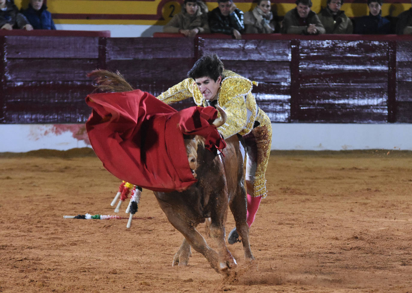
[[[173,16],[163,31],[183,33],[186,37],[210,33],[207,12],[208,8],[202,0],[185,0],[182,11]]]

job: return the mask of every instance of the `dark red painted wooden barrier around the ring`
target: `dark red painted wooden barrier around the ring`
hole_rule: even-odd
[[[259,82],[253,93],[272,122],[412,122],[412,36],[155,36],[0,34],[1,122],[83,123],[89,71],[119,70],[133,87],[158,95],[208,53]]]

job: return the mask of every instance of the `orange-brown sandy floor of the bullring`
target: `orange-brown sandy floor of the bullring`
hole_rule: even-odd
[[[183,237],[148,190],[130,229],[63,219],[114,214],[119,180],[90,149],[3,153],[0,292],[412,292],[411,168],[412,152],[397,150],[272,152],[250,230],[256,263],[231,245],[239,266],[224,278],[196,251],[171,267]]]

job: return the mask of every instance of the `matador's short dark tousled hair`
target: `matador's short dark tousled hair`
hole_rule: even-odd
[[[187,73],[187,77],[196,79],[208,76],[216,81],[218,80],[218,77],[223,74],[223,69],[225,69],[225,67],[218,55],[205,55],[201,56],[199,60],[194,63],[192,69]]]

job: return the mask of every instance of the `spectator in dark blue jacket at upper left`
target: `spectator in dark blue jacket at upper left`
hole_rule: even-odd
[[[30,0],[27,9],[21,9],[30,24],[36,30],[55,30],[52,14],[47,11],[43,0]]]

